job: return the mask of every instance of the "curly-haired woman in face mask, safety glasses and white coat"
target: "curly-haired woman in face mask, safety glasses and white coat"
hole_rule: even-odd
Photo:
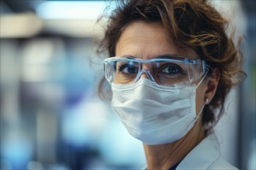
[[[212,131],[245,75],[227,26],[203,0],[120,1],[109,15],[99,52],[112,109],[144,143],[147,169],[236,169]]]

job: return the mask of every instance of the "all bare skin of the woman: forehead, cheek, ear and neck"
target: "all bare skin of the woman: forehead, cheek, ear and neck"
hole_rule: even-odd
[[[174,54],[197,59],[199,56],[193,49],[177,46],[176,42],[164,32],[163,26],[158,22],[133,22],[119,37],[116,44],[116,56],[134,56],[141,59],[151,59],[155,56]],[[148,68],[144,68],[148,69]],[[146,75],[140,78],[147,78]],[[196,113],[206,103],[206,98],[212,100],[220,80],[218,70],[213,70],[212,76],[203,80],[196,90]],[[148,169],[168,169],[185,157],[205,138],[201,119],[196,121],[194,127],[185,137],[174,143],[164,145],[146,145],[144,151],[147,158]]]

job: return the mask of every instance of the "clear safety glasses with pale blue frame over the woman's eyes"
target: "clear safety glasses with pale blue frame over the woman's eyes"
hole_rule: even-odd
[[[185,59],[175,56],[155,59],[131,59],[112,57],[104,60],[105,76],[109,83],[135,83],[145,70],[151,80],[159,85],[185,87],[198,80],[205,73],[206,64],[201,59]]]

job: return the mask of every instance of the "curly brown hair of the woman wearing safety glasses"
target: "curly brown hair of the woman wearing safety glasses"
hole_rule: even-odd
[[[204,108],[207,114],[202,115],[206,130],[213,128],[223,114],[227,93],[246,76],[241,70],[243,57],[234,45],[234,34],[227,34],[228,20],[206,0],[122,0],[117,3],[116,9],[107,16],[98,53],[108,51],[109,57],[115,56],[116,42],[132,22],[161,22],[171,39],[194,49],[209,66],[220,70],[216,94]],[[240,46],[240,40],[237,45]],[[100,95],[106,92],[104,87],[102,79]],[[220,112],[215,113],[218,109]]]

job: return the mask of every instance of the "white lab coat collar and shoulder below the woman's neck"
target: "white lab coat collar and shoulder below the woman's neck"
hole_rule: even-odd
[[[215,134],[210,134],[192,149],[176,170],[184,169],[237,169],[220,155],[220,144]]]

